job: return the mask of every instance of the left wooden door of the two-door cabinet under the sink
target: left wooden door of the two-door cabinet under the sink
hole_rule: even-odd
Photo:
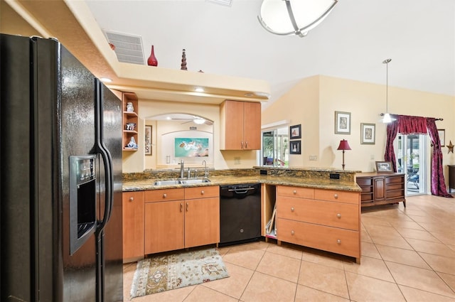
[[[183,200],[146,203],[145,254],[183,249]]]

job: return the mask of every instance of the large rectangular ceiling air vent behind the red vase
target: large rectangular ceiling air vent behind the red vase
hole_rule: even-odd
[[[122,63],[145,65],[144,53],[142,53],[142,38],[140,36],[126,35],[103,31],[107,41],[114,45],[117,60]]]

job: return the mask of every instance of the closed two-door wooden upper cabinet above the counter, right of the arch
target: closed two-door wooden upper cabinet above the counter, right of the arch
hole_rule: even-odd
[[[220,149],[261,149],[261,104],[225,101],[220,105]]]

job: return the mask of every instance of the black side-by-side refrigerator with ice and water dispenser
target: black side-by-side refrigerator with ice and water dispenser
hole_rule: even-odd
[[[123,301],[120,99],[55,39],[0,64],[0,301]]]

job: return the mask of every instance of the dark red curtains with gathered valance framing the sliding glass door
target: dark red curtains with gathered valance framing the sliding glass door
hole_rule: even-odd
[[[408,115],[394,116],[397,120],[387,125],[387,141],[385,145],[385,161],[391,161],[393,171],[397,171],[395,160],[395,151],[393,141],[397,133],[401,134],[429,134],[433,144],[432,157],[432,195],[451,198],[452,195],[447,193],[446,184],[444,183],[444,173],[442,167],[442,152],[439,141],[439,134],[436,126],[436,119],[425,117],[410,117]]]

